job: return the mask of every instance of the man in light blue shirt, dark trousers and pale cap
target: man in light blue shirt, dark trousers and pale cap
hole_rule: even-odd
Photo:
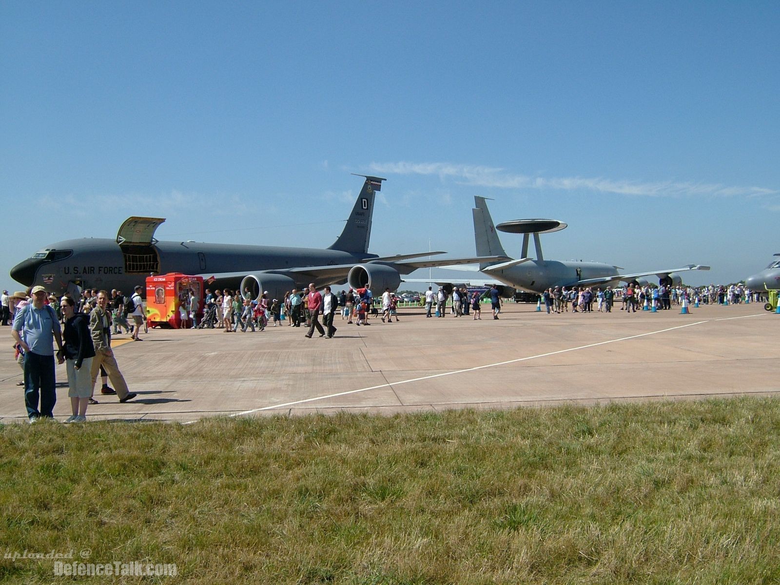
[[[54,417],[57,394],[53,342],[57,342],[58,359],[63,354],[62,330],[54,310],[45,304],[46,289],[34,286],[30,293],[32,303],[14,314],[12,335],[24,352],[24,403],[30,423],[34,423],[41,417]]]

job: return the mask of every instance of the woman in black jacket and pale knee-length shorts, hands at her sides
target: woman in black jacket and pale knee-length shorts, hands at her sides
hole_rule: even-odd
[[[68,395],[73,416],[66,423],[83,423],[87,420],[87,405],[92,395],[92,358],[95,349],[92,345],[89,317],[76,313],[76,303],[69,296],[62,297],[62,317],[65,317],[65,330],[62,332],[62,349],[57,357],[66,361],[68,370]]]

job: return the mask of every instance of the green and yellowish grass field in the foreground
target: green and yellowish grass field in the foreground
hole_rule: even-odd
[[[780,581],[774,399],[0,437],[4,555],[176,564],[146,583]],[[117,581],[52,567],[0,579]]]

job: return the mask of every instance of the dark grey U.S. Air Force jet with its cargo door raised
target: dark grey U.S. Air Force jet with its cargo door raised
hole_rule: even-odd
[[[77,293],[84,287],[114,288],[127,294],[135,285],[144,285],[149,275],[181,272],[203,276],[211,289],[240,289],[252,298],[268,291],[271,298],[281,299],[285,291],[301,289],[310,282],[317,288],[348,282],[354,289],[367,287],[380,292],[387,287],[397,289],[401,275],[417,268],[505,259],[410,261],[444,253],[429,251],[390,257],[368,254],[374,194],[381,190],[385,179],[363,177],[363,189],[346,226],[325,250],[158,241],[154,231],[165,219],[132,217],[119,228],[115,240],[85,238],[53,243],[17,264],[11,276],[23,285],[43,285],[55,294],[66,290]]]

